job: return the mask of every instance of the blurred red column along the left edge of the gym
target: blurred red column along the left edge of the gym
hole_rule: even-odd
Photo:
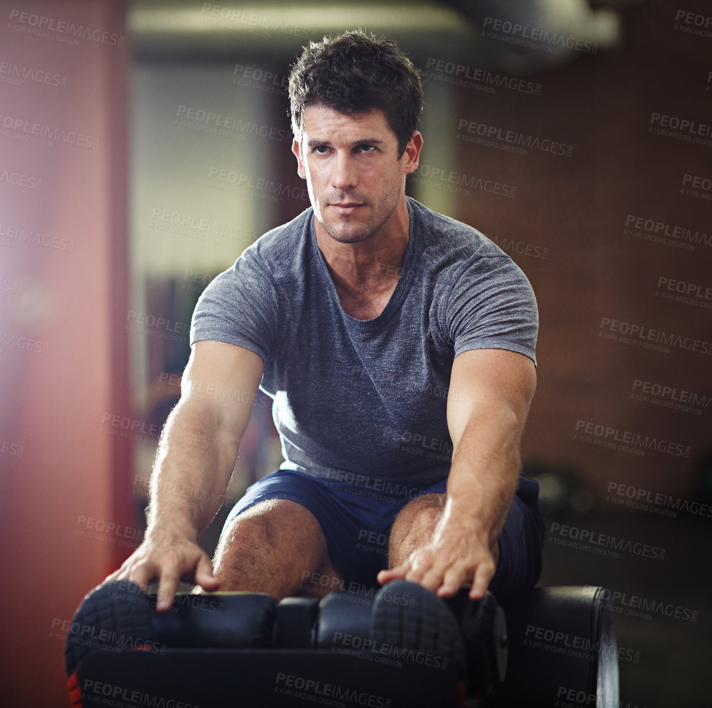
[[[129,63],[123,0],[0,2],[0,684],[9,705],[67,704],[68,621],[127,555],[122,534],[135,525],[130,441],[113,434],[132,419]]]

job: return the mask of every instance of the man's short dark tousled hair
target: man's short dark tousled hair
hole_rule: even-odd
[[[305,46],[290,71],[289,102],[295,137],[310,105],[347,115],[379,108],[398,139],[400,157],[418,127],[423,87],[419,69],[394,41],[345,32]]]

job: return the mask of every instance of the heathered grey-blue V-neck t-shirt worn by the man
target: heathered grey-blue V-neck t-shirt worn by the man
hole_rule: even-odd
[[[207,286],[191,345],[218,340],[264,362],[282,469],[322,479],[438,481],[452,442],[452,363],[505,349],[536,363],[530,283],[476,229],[407,197],[409,241],[397,286],[371,320],[345,313],[318,248],[313,209],[263,234]],[[384,269],[384,274],[386,271]]]

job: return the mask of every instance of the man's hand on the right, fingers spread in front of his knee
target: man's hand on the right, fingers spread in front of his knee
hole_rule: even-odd
[[[487,534],[467,524],[441,520],[426,546],[416,548],[407,561],[378,573],[378,582],[403,578],[419,583],[441,598],[471,585],[469,596],[479,600],[487,590],[499,561],[499,544],[491,546]]]

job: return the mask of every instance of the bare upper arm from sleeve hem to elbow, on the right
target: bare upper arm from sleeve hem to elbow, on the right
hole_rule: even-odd
[[[505,349],[474,349],[457,355],[447,402],[454,447],[472,420],[498,420],[520,433],[535,388],[534,363],[523,354]]]

